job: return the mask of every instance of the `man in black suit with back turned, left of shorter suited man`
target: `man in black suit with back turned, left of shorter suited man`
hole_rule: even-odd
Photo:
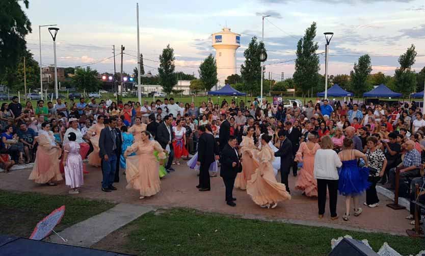
[[[215,161],[217,144],[212,134],[206,133],[205,126],[199,126],[200,134],[198,139],[198,161],[199,165],[199,191],[211,190],[209,183],[209,166]]]

